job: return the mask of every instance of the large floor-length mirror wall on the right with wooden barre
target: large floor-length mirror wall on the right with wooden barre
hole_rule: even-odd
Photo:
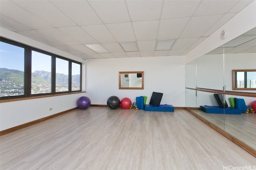
[[[246,85],[246,89],[244,86],[234,89],[235,74],[237,77],[242,74],[241,79],[246,80],[246,84],[250,80],[256,83],[255,56],[256,28],[186,64],[186,108],[230,134],[234,141],[241,141],[240,146],[250,153],[256,152],[255,113],[236,115],[226,114],[224,110],[224,114],[209,114],[200,110],[200,106],[218,106],[214,93],[224,94],[228,106],[231,106],[229,98],[244,99],[246,105],[256,100],[255,88]],[[254,77],[250,78],[252,74]]]

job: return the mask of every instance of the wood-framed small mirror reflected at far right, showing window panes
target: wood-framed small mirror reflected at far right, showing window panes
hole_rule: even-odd
[[[232,90],[256,90],[256,69],[232,70]]]

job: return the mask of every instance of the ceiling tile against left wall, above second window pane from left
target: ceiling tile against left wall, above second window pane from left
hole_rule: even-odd
[[[24,35],[25,37],[39,41],[41,43],[44,43],[46,45],[51,45],[51,46],[62,45],[62,43],[59,42],[58,40],[52,39],[52,37],[48,37],[47,35],[42,35],[36,30],[17,31],[17,33]]]

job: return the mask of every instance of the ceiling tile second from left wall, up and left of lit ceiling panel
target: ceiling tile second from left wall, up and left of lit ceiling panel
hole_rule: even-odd
[[[42,36],[49,36],[52,39],[59,41],[63,45],[79,44],[77,41],[62,33],[57,28],[37,29],[36,31],[38,31]]]

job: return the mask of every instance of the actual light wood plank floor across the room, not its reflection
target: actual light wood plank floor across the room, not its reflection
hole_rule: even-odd
[[[89,107],[0,139],[1,170],[223,170],[255,165],[255,157],[181,109]]]

